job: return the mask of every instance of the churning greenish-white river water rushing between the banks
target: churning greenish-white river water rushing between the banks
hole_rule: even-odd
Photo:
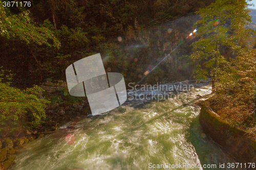
[[[200,107],[194,104],[211,87],[193,85],[164,101],[138,100],[141,105],[136,105],[134,100],[105,115],[84,118],[76,129],[62,127],[28,143],[11,169],[230,169],[227,163],[235,161],[203,133]],[[73,144],[67,143],[68,134],[75,136]],[[220,168],[223,163],[226,167]]]

